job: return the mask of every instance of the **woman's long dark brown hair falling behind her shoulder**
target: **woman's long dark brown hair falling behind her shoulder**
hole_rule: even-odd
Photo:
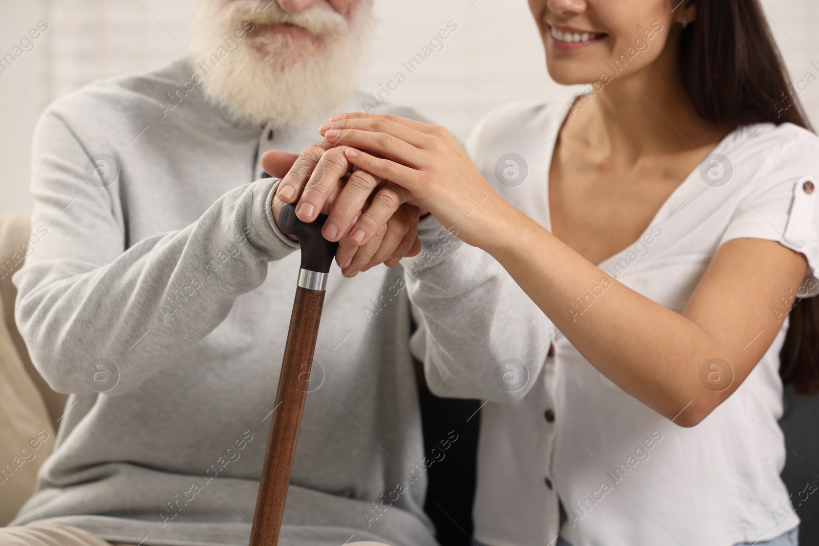
[[[813,131],[756,0],[692,0],[682,30],[682,81],[699,115],[726,127],[790,122]],[[819,297],[819,296],[817,296]],[[819,393],[819,301],[797,299],[780,375],[800,394]]]

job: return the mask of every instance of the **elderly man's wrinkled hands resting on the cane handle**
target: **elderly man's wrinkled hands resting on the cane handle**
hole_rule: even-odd
[[[268,151],[262,156],[261,164],[268,174],[283,178],[271,203],[274,219],[278,221],[283,205],[296,202],[299,196],[302,199],[296,206],[296,215],[301,220],[312,222],[320,212],[331,214],[324,224],[324,237],[338,241],[336,262],[347,277],[354,277],[359,271],[366,271],[383,262],[394,266],[405,255],[419,253],[420,242],[416,237],[419,210],[403,202],[391,210],[373,208],[374,198],[370,193],[373,187],[379,185],[383,189],[383,181],[365,171],[357,170],[351,174],[353,165],[346,161],[344,148],[319,142],[298,156],[284,151]],[[283,190],[283,187],[286,189]],[[370,189],[363,199],[355,201],[355,209],[346,206],[350,199],[342,199],[342,190],[351,196],[353,190],[364,191],[366,188]],[[400,190],[405,192],[403,188]],[[411,198],[409,192],[405,193]],[[305,203],[310,207],[305,207]],[[351,240],[350,225],[363,217],[373,216],[378,216],[378,226],[373,228],[370,237],[363,242]],[[331,221],[342,226],[342,229],[328,236]]]

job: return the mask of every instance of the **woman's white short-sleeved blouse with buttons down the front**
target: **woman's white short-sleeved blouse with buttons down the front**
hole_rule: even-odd
[[[503,106],[467,145],[500,195],[546,229],[552,152],[572,102]],[[753,237],[806,255],[799,296],[815,296],[819,191],[812,184],[819,184],[816,135],[793,124],[736,129],[676,188],[643,236],[600,268],[681,312],[717,248]],[[731,546],[793,529],[799,517],[780,479],[786,447],[777,424],[783,322],[734,395],[692,428],[620,390],[555,330],[554,356],[527,395],[488,403],[482,413],[476,539],[551,546],[559,531],[555,493],[573,546]]]

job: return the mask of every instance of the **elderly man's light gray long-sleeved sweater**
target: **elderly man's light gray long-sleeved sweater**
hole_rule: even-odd
[[[181,60],[93,83],[39,120],[39,237],[13,279],[16,321],[38,371],[71,395],[11,525],[247,544],[299,266],[259,157],[301,151],[324,120],[232,122],[193,71]],[[432,217],[419,237],[403,270],[329,275],[282,546],[435,544],[426,472],[458,431],[423,452],[410,345],[441,395],[519,398],[497,382],[510,356],[540,372],[528,341],[545,316],[500,265]],[[423,310],[414,333],[408,292]]]

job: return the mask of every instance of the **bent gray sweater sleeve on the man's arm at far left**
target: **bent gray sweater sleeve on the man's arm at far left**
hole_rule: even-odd
[[[106,392],[95,375],[104,370],[116,374],[109,394],[122,395],[210,333],[237,296],[264,282],[268,262],[298,245],[274,223],[274,178],[234,188],[185,228],[128,245],[127,188],[89,176],[81,142],[57,113],[38,122],[16,322],[54,390]]]

